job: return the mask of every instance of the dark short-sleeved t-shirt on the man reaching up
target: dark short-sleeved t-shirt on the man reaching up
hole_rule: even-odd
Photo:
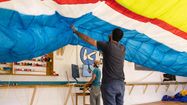
[[[125,48],[119,43],[97,41],[98,50],[103,52],[102,83],[113,80],[124,80]]]

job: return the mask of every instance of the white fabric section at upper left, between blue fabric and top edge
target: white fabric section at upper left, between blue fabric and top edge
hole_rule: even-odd
[[[100,2],[95,4],[59,5],[53,0],[11,0],[1,2],[0,7],[18,11],[27,15],[51,15],[58,11],[67,17],[79,17],[91,12]]]

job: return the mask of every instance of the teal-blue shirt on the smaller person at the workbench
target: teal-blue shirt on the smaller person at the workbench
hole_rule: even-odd
[[[92,82],[92,85],[93,86],[100,86],[100,80],[101,80],[101,71],[98,69],[98,68],[95,68],[94,70],[93,70],[93,74],[95,74],[96,75],[96,78],[95,78],[95,80]],[[92,75],[93,75],[92,74]]]

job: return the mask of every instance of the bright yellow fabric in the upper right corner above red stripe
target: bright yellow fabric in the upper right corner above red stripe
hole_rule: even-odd
[[[129,10],[187,32],[187,0],[116,0]]]

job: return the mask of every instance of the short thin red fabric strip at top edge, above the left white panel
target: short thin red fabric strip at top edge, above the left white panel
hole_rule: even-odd
[[[58,4],[87,4],[96,3],[99,0],[54,0]]]

